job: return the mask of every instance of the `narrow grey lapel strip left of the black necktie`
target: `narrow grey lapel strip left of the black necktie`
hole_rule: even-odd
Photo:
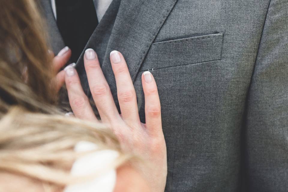
[[[46,25],[48,28],[49,39],[48,43],[55,54],[57,54],[61,49],[64,48],[65,44],[62,36],[58,30],[57,23],[52,10],[52,5],[50,0],[41,0],[42,14],[46,19]]]

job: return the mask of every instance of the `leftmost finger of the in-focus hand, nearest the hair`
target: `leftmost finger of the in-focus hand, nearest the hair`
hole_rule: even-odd
[[[97,121],[88,98],[82,89],[76,70],[74,67],[72,67],[72,65],[68,65],[64,71],[69,103],[75,117],[79,119]]]

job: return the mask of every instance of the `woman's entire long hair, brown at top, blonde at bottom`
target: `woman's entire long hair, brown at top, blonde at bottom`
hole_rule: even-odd
[[[0,172],[64,186],[73,181],[67,165],[83,155],[73,151],[79,141],[118,151],[114,167],[130,156],[104,125],[65,117],[55,107],[55,74],[38,8],[33,0],[0,1]]]

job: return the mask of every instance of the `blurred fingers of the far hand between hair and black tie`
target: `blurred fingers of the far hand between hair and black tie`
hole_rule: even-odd
[[[56,91],[58,92],[62,85],[65,82],[65,72],[64,70],[60,70],[70,59],[71,57],[71,50],[69,47],[64,47],[57,56],[54,55],[52,51],[49,51],[50,57],[53,58],[52,61],[52,68],[53,72],[56,74],[55,83],[56,83]]]

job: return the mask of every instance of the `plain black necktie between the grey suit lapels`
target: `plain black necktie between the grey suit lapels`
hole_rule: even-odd
[[[93,0],[56,0],[57,25],[76,62],[98,25]]]

